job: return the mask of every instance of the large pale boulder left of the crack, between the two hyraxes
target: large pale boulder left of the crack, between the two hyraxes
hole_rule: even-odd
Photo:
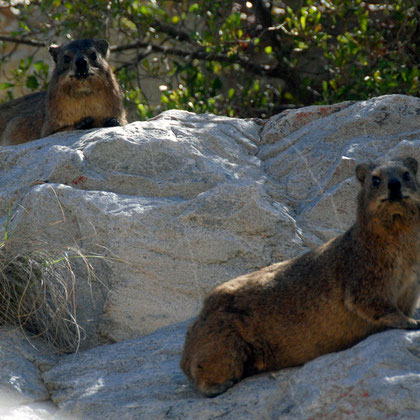
[[[123,260],[80,284],[79,321],[113,340],[146,334],[196,314],[216,284],[301,252],[290,209],[266,191],[258,142],[255,122],[171,111],[5,147],[1,210],[14,200],[14,225],[54,249],[78,242]]]

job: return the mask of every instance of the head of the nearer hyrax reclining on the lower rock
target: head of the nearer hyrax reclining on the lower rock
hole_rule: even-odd
[[[362,163],[356,177],[362,185],[359,215],[380,220],[387,227],[419,222],[420,187],[416,179],[417,160],[412,157],[383,163]]]

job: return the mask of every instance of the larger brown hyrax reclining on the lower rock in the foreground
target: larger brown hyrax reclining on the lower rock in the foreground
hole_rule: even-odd
[[[386,328],[417,329],[417,161],[361,164],[356,223],[300,257],[218,286],[190,326],[181,368],[208,397]]]

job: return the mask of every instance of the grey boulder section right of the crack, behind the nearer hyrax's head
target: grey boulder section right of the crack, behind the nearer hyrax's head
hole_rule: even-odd
[[[313,235],[314,244],[353,223],[357,163],[407,155],[420,158],[418,98],[388,95],[324,108],[303,108],[268,120],[258,153],[274,179],[270,194],[296,211],[298,227]]]

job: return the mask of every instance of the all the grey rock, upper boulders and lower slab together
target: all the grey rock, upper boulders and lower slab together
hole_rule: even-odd
[[[407,155],[420,160],[420,99],[400,95],[264,122],[168,111],[0,148],[0,226],[11,206],[11,233],[105,253],[91,260],[96,280],[80,269],[78,320],[85,348],[121,341],[44,363],[19,335],[2,338],[0,416],[417,418],[419,332],[377,334],[208,400],[178,367],[186,324],[171,325],[215,285],[345,230],[356,164]]]

